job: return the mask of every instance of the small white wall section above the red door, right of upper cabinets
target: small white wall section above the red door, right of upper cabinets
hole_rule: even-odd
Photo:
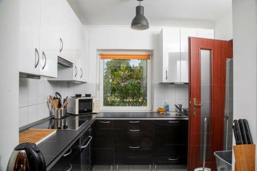
[[[217,18],[215,22],[215,39],[230,41],[233,39],[232,6],[226,13]]]

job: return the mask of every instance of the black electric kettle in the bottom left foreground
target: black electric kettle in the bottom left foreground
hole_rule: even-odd
[[[23,143],[12,151],[6,170],[46,171],[46,163],[43,154],[34,143]]]

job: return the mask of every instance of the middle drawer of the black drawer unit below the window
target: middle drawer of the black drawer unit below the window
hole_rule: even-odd
[[[154,128],[131,128],[116,129],[115,144],[135,145],[142,147],[152,147],[154,137]]]

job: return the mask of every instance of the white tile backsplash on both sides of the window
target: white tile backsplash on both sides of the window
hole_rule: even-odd
[[[48,103],[49,95],[55,96],[55,92],[61,93],[63,98],[75,94],[90,93],[96,97],[98,90],[96,83],[74,84],[46,79],[20,78],[19,83],[19,126],[47,118],[53,111]],[[169,83],[154,83],[153,110],[164,107],[167,102],[170,110],[175,110],[174,104],[182,104],[188,107],[188,85],[174,85]]]

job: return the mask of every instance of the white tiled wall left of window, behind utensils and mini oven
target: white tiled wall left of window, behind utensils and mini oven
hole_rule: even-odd
[[[62,98],[74,96],[76,93],[96,95],[95,83],[74,84],[20,78],[19,84],[19,126],[47,118],[52,115],[49,95],[55,96],[59,92]]]

